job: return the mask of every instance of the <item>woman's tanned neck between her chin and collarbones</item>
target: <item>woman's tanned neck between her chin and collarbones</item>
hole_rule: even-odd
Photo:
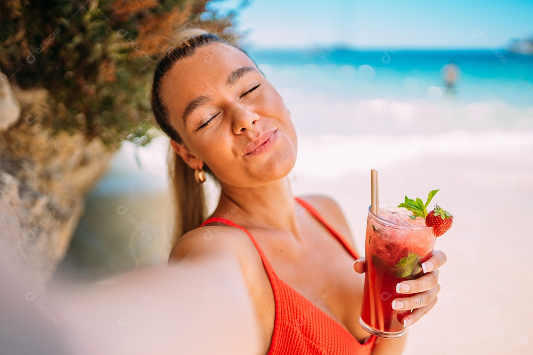
[[[252,188],[222,185],[220,202],[213,214],[242,225],[273,227],[298,238],[300,235],[288,177]]]

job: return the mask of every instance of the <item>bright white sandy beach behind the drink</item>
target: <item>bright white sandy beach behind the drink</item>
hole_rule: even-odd
[[[383,201],[405,194],[425,197],[441,189],[435,202],[456,216],[435,245],[448,262],[439,276],[437,306],[411,327],[406,354],[531,352],[533,241],[526,211],[533,196],[533,133],[495,132],[480,150],[472,146],[475,139],[465,132],[413,137],[418,147],[427,147],[426,153],[413,154],[398,137],[317,138],[316,151],[300,155],[301,161],[314,160],[317,171],[335,171],[332,154],[339,146],[346,154],[365,152],[361,164],[354,156],[350,168],[342,166],[341,174],[330,177],[295,169],[296,193],[320,191],[342,205],[359,250],[364,247],[370,167],[379,170]],[[369,159],[365,155],[375,144],[378,154]]]

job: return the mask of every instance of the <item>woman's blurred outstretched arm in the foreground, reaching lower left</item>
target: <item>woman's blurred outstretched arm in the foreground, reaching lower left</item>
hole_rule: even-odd
[[[167,267],[136,270],[114,284],[50,290],[74,353],[258,353],[235,254],[201,247],[180,254]]]

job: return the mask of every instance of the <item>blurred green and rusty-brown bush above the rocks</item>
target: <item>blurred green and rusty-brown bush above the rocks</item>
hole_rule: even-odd
[[[5,0],[0,2],[0,69],[21,88],[50,92],[53,131],[82,131],[107,144],[146,144],[150,88],[173,34],[201,27],[231,42],[235,11],[207,0]],[[241,6],[246,5],[243,2]]]

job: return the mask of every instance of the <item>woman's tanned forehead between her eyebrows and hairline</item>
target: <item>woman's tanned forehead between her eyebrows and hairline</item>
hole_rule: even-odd
[[[199,95],[209,95],[217,86],[225,86],[233,70],[246,66],[255,67],[255,64],[235,47],[221,43],[200,47],[165,73],[161,99],[171,114],[179,114],[177,111],[183,111],[189,101]]]

